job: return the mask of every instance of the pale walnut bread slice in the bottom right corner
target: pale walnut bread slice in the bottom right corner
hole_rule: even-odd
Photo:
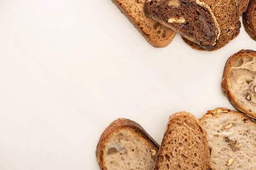
[[[211,150],[212,170],[256,170],[256,122],[227,108],[201,119]]]

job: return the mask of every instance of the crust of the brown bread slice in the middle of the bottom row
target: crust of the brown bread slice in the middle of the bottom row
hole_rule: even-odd
[[[167,144],[167,136],[168,136],[168,129],[169,129],[169,126],[172,124],[172,121],[174,121],[175,119],[177,118],[180,118],[180,117],[183,117],[184,115],[186,116],[189,116],[191,119],[195,119],[196,120],[196,125],[201,129],[201,132],[203,133],[203,140],[205,141],[205,145],[204,145],[204,152],[205,153],[208,153],[207,155],[207,162],[205,162],[207,164],[207,169],[206,170],[210,170],[210,153],[209,153],[209,145],[208,145],[208,141],[207,141],[207,134],[206,134],[206,131],[204,130],[204,128],[201,126],[200,122],[198,121],[198,119],[192,115],[191,113],[188,113],[188,112],[185,112],[185,111],[182,111],[182,112],[177,112],[177,113],[174,113],[172,114],[172,116],[169,117],[169,121],[166,125],[166,129],[165,129],[165,132],[164,132],[164,136],[163,136],[163,140],[161,142],[161,145],[160,145],[160,148],[159,148],[159,152],[157,154],[157,160],[155,162],[155,165],[154,165],[154,170],[159,170],[159,160],[160,160],[160,155],[163,154],[163,144]]]

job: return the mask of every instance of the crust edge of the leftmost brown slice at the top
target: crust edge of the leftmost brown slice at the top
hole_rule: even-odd
[[[127,10],[125,10],[125,8],[123,8],[121,6],[121,3],[118,3],[118,0],[112,0],[112,2],[116,5],[117,8],[119,8],[119,10],[122,12],[122,14],[125,15],[125,17],[127,17],[127,19],[134,25],[134,27],[143,35],[143,37],[148,41],[149,44],[151,44],[153,47],[156,48],[163,48],[166,47],[167,45],[169,45],[172,40],[175,37],[175,32],[172,31],[172,35],[170,36],[169,40],[164,42],[164,41],[156,41],[154,39],[152,39],[151,37],[149,37],[149,35],[143,31],[140,26],[138,25],[138,23],[134,20],[134,18],[131,16],[131,14],[129,14],[129,12]],[[143,12],[143,11],[142,11]]]

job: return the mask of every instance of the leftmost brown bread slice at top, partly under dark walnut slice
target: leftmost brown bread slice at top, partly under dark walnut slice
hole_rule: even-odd
[[[128,20],[137,28],[145,39],[154,47],[169,45],[175,37],[175,32],[147,17],[143,12],[145,0],[112,0],[125,14]]]

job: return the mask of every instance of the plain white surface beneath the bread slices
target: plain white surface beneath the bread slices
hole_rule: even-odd
[[[221,92],[241,34],[215,52],[177,34],[153,48],[111,0],[0,0],[0,169],[99,170],[99,136],[114,119],[161,142],[169,115],[233,109]]]

